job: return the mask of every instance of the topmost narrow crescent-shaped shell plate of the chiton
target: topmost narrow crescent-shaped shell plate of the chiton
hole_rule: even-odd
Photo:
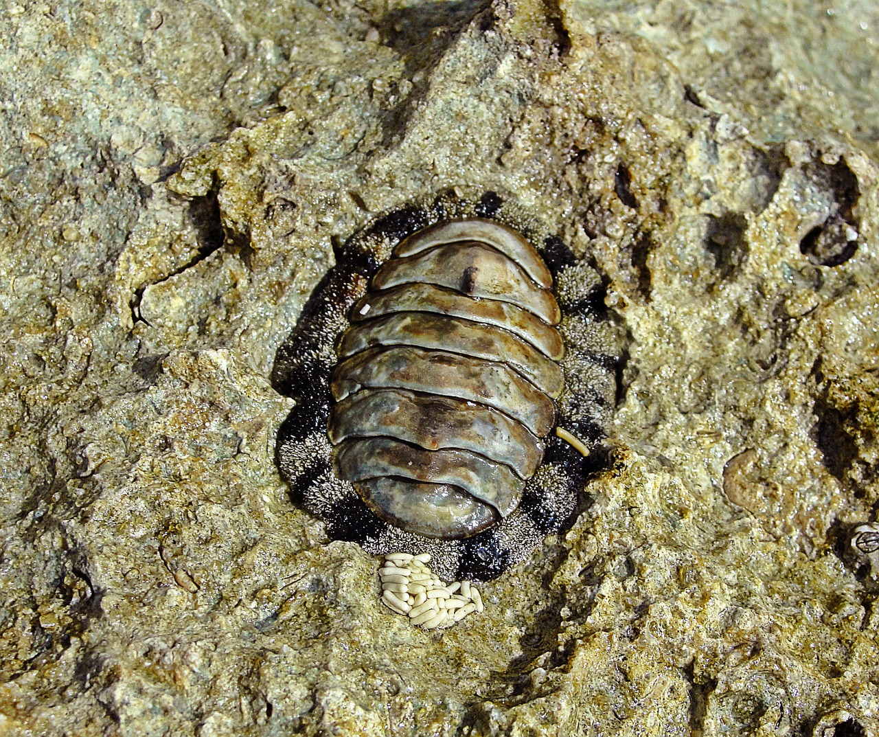
[[[532,244],[512,228],[482,218],[451,220],[419,230],[396,246],[394,256],[412,256],[435,245],[461,241],[477,241],[490,245],[522,266],[539,286],[545,289],[552,287],[552,274],[549,274],[541,254]]]

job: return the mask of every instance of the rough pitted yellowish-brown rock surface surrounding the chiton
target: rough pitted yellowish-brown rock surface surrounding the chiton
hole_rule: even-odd
[[[7,4],[0,726],[879,733],[875,5]],[[439,633],[273,464],[333,239],[453,186],[607,276],[612,468]]]

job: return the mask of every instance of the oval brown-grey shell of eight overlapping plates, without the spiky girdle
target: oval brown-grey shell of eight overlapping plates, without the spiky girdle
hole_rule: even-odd
[[[381,519],[427,537],[519,506],[563,387],[561,314],[540,254],[489,220],[404,239],[338,342],[333,463]]]

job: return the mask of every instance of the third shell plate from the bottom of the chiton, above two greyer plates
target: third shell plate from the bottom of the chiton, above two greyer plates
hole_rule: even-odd
[[[426,450],[463,448],[510,466],[530,478],[543,446],[527,428],[504,412],[437,394],[399,389],[363,390],[333,408],[330,440],[387,435]]]

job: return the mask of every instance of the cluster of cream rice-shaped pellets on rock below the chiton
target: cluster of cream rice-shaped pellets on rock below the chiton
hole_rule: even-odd
[[[429,553],[389,553],[381,576],[381,601],[425,630],[450,627],[483,610],[483,597],[469,581],[446,584],[427,567]]]

